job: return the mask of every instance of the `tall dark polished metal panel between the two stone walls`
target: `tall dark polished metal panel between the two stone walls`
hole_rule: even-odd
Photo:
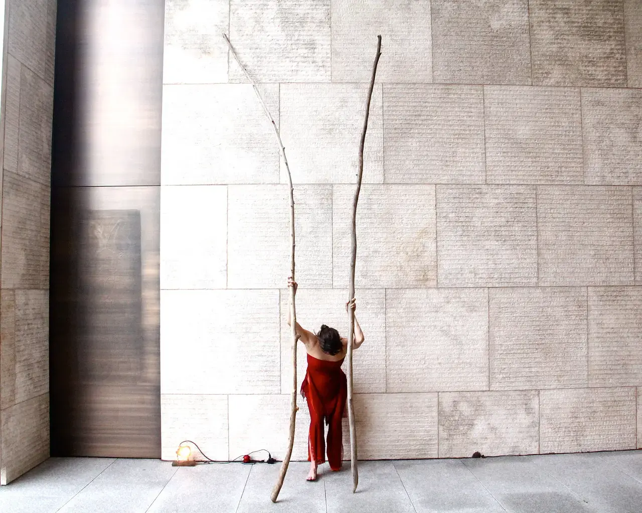
[[[162,0],[58,5],[50,301],[56,456],[160,456],[163,11]]]

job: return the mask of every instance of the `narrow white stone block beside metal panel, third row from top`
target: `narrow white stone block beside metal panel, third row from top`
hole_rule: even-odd
[[[227,187],[161,187],[160,269],[161,289],[225,289]]]

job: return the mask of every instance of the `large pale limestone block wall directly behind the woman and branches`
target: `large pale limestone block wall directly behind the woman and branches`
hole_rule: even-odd
[[[642,447],[641,25],[638,0],[168,0],[162,457],[287,440],[288,189],[221,31],[288,153],[299,321],[343,333],[383,36],[357,219],[361,458]]]

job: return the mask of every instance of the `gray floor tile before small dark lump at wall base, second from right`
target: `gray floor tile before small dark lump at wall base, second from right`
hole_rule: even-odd
[[[509,513],[596,513],[531,457],[462,461]]]

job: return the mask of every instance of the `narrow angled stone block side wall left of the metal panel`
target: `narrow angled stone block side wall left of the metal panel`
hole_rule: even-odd
[[[1,128],[0,484],[49,457],[55,0],[6,0]]]

